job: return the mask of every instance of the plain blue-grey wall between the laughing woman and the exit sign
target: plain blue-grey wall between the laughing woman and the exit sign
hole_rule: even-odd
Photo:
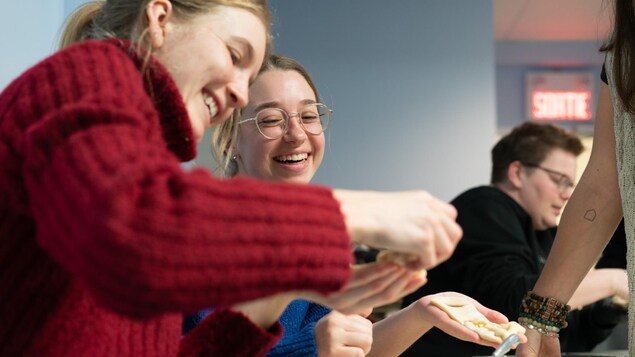
[[[496,133],[490,0],[274,0],[277,50],[334,109],[316,182],[425,188],[489,180]],[[207,142],[199,165],[206,165]]]

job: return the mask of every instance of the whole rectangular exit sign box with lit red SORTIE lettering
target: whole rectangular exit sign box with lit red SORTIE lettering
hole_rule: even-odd
[[[586,121],[593,118],[593,73],[531,72],[525,82],[529,119]]]

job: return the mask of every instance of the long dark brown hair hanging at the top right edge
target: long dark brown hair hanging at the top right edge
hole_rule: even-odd
[[[601,52],[613,52],[611,79],[624,108],[635,114],[635,14],[632,0],[614,0],[613,32],[600,47]]]

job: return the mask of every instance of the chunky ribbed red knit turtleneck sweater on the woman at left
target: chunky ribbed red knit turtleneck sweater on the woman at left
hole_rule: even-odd
[[[278,327],[219,309],[179,346],[181,314],[340,288],[338,203],[184,172],[196,149],[182,98],[156,63],[144,84],[128,47],[75,45],[0,94],[0,355],[262,354]]]

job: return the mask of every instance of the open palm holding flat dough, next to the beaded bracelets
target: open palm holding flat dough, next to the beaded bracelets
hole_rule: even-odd
[[[443,292],[439,294],[424,296],[421,299],[415,301],[408,308],[412,308],[420,316],[423,322],[434,325],[450,336],[454,336],[460,340],[477,343],[479,345],[490,346],[494,348],[499,346],[498,343],[482,339],[475,331],[470,330],[469,328],[463,326],[461,323],[453,320],[443,310],[431,304],[432,299],[438,296],[461,297],[462,299],[465,299],[472,305],[474,305],[474,307],[476,307],[476,309],[489,321],[495,323],[509,322],[507,320],[507,317],[505,317],[505,315],[501,314],[500,312],[488,309],[485,306],[481,305],[478,301],[470,298],[469,296],[455,292]],[[527,341],[527,338],[524,335],[520,335],[519,337],[521,343]]]

